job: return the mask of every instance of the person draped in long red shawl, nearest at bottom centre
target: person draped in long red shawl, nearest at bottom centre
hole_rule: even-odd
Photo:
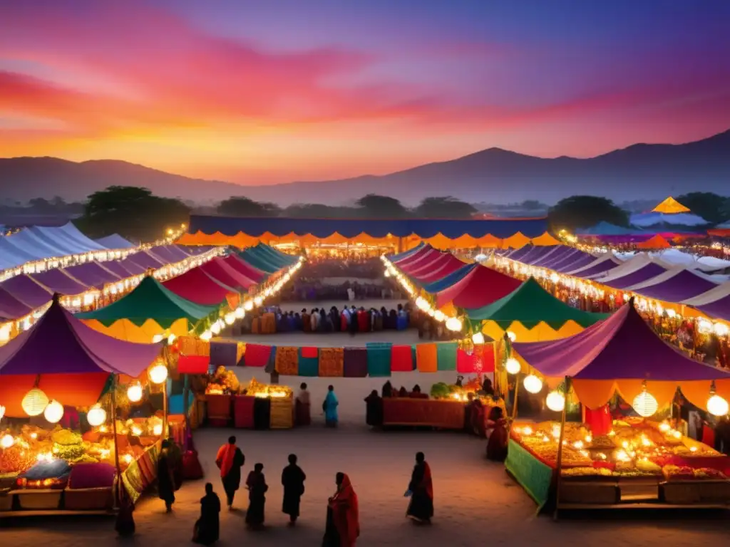
[[[322,547],[353,547],[360,536],[358,494],[345,473],[335,476],[337,492],[327,505],[327,527]]]

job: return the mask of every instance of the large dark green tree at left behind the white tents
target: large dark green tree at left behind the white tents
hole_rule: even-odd
[[[188,222],[190,209],[180,200],[161,198],[147,188],[110,186],[88,197],[78,224],[91,237],[120,236],[155,241],[168,228]]]

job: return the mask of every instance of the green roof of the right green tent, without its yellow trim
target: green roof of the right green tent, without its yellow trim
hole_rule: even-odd
[[[467,309],[466,314],[474,322],[493,321],[506,329],[513,321],[533,328],[545,322],[557,330],[571,319],[582,327],[606,319],[609,314],[592,314],[573,308],[559,298],[555,298],[531,277],[509,295],[495,300],[482,308]]]

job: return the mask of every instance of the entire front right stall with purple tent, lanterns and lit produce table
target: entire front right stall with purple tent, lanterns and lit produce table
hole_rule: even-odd
[[[513,349],[512,373],[531,394],[547,392],[556,414],[510,432],[507,470],[540,508],[730,505],[730,460],[683,435],[672,410],[661,419],[677,388],[694,406],[726,416],[730,373],[658,338],[633,300],[582,333]],[[583,423],[566,422],[571,393],[585,408]],[[607,404],[615,394],[638,417],[612,421]]]

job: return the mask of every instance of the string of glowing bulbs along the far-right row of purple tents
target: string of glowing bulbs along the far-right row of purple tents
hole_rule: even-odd
[[[604,298],[606,291],[600,287],[596,287],[593,282],[580,279],[573,276],[564,274],[558,274],[556,271],[552,271],[548,268],[542,268],[539,266],[533,266],[529,264],[523,264],[517,260],[512,260],[507,257],[494,257],[494,264],[502,269],[507,270],[512,276],[520,279],[527,277],[534,277],[538,280],[549,281],[553,285],[561,285],[569,290],[577,290],[582,295],[588,298],[595,298],[597,300]],[[631,297],[634,297],[637,309],[642,312],[650,312],[656,314],[658,317],[667,317],[671,320],[681,321],[683,319],[681,314],[671,308],[664,308],[659,300],[653,300],[651,298],[644,298],[642,295],[634,295],[632,292],[623,293],[623,301],[628,302]],[[609,292],[609,298],[615,300],[614,295]],[[723,338],[730,335],[730,325],[725,322],[712,322],[704,317],[696,318],[697,332],[700,334],[712,334]]]

